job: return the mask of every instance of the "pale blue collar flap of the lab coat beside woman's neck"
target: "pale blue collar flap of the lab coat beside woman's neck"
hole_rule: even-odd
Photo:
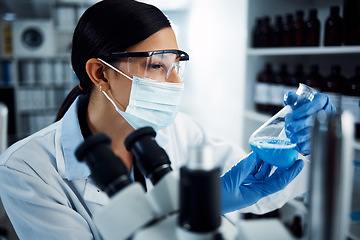
[[[65,176],[69,180],[87,178],[90,169],[84,162],[79,162],[75,156],[75,150],[83,143],[78,112],[79,97],[71,104],[65,113],[61,127],[61,146],[64,153]]]

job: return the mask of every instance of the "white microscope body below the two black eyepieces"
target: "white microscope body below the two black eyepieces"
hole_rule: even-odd
[[[179,181],[179,171],[172,171],[147,193],[139,183],[133,183],[115,194],[93,216],[104,240],[210,240],[216,236],[235,240],[236,227],[223,216],[219,228],[210,232],[193,232],[179,226]]]

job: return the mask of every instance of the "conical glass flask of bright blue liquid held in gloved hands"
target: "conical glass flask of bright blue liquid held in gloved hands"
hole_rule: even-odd
[[[273,166],[290,167],[297,159],[296,143],[292,143],[285,134],[285,115],[302,104],[312,101],[316,90],[300,83],[294,104],[287,105],[258,128],[249,139],[251,149],[260,158]]]

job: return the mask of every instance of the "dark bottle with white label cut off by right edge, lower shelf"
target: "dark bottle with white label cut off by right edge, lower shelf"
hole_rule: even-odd
[[[355,137],[360,139],[360,66],[356,66],[355,75],[345,81],[341,109],[353,114]]]

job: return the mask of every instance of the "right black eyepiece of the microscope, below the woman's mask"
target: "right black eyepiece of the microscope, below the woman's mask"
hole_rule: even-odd
[[[155,141],[156,132],[151,127],[140,128],[125,139],[125,147],[132,152],[141,173],[155,185],[172,171],[170,160]]]

